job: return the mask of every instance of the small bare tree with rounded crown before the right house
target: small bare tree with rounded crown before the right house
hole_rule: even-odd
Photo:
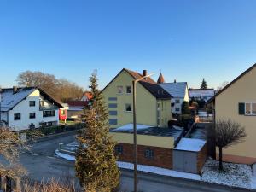
[[[241,143],[247,136],[245,128],[230,119],[218,119],[216,121],[214,137],[219,149],[219,170],[223,170],[223,148]]]

